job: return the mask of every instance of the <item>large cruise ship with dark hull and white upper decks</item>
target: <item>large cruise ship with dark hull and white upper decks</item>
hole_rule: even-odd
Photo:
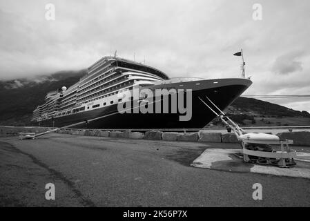
[[[45,104],[37,106],[33,112],[32,125],[111,129],[203,128],[211,122],[215,114],[206,108],[202,100],[206,103],[212,101],[224,110],[251,84],[252,81],[246,78],[169,78],[161,70],[151,66],[116,56],[106,56],[90,66],[87,74],[77,83],[48,93]],[[133,94],[135,89],[149,89],[148,91],[154,92],[166,89],[169,95],[158,97],[154,93],[154,97],[143,94],[137,97],[119,97],[122,93]],[[180,91],[184,99],[188,99],[186,94],[191,92],[191,102],[188,103],[191,105],[191,115],[185,120],[180,120],[184,111],[172,111],[172,95],[175,93],[180,97]],[[159,111],[155,111],[155,105],[153,113],[119,111],[120,103],[123,105],[130,102],[131,107],[138,108],[137,104],[144,103],[151,107],[152,100],[162,104]],[[177,102],[180,100],[177,99]],[[183,103],[185,106],[186,101]],[[163,106],[167,104],[169,111],[164,112]]]

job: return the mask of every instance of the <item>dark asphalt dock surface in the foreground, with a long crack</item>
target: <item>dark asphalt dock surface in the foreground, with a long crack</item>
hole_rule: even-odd
[[[0,138],[0,206],[310,206],[310,180],[190,166],[204,144],[79,137]],[[46,200],[46,184],[55,200]],[[253,200],[253,184],[262,200]]]

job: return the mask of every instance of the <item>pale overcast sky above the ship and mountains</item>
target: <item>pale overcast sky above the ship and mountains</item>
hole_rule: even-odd
[[[0,0],[0,28],[2,80],[79,70],[115,50],[170,77],[239,77],[232,54],[243,48],[246,95],[310,94],[309,0]],[[309,97],[268,101],[310,111]]]

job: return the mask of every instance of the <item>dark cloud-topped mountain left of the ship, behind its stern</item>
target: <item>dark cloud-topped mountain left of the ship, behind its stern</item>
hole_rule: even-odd
[[[86,70],[62,71],[35,79],[0,81],[0,125],[30,124],[32,111],[43,104],[46,93],[71,86],[86,75]]]

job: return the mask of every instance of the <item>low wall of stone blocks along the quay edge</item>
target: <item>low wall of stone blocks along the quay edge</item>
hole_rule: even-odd
[[[0,126],[0,137],[18,136],[19,133],[41,133],[49,131],[52,128],[43,127],[25,127],[25,126]],[[195,133],[176,133],[162,131],[104,131],[104,130],[71,130],[62,129],[58,133],[79,135],[79,136],[96,136],[96,137],[119,137],[129,139],[146,139],[146,140],[164,140],[168,142],[215,142],[215,143],[238,143],[234,133],[211,133],[210,131],[199,131]],[[280,140],[293,140],[296,146],[310,146],[310,132],[296,131],[283,132],[277,134]]]

